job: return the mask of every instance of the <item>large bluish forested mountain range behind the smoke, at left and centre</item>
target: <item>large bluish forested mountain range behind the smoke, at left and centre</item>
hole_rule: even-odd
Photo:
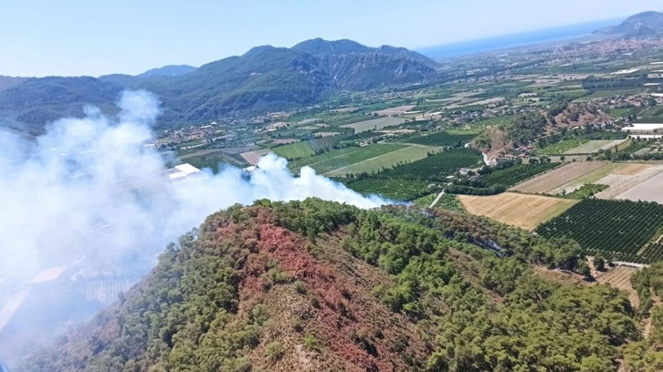
[[[0,77],[0,126],[37,134],[47,121],[106,112],[123,89],[147,89],[163,101],[161,124],[251,115],[320,102],[342,90],[388,87],[436,78],[437,63],[401,47],[352,40],[254,47],[202,67],[167,66],[138,76]]]

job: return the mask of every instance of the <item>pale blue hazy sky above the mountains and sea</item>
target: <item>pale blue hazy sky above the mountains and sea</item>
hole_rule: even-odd
[[[663,10],[661,0],[2,0],[0,75],[138,74],[313,38],[428,47]]]

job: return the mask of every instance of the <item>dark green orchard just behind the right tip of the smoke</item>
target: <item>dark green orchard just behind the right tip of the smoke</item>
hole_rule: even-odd
[[[348,182],[346,186],[364,195],[376,194],[392,201],[410,202],[435,191],[428,187],[429,184],[416,180],[363,179]]]

